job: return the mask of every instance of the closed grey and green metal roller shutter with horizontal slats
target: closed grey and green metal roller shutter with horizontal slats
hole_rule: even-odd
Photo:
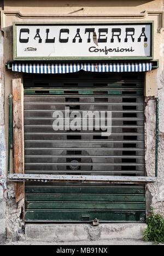
[[[143,74],[24,78],[25,173],[144,176]],[[54,131],[55,110],[112,111],[112,135]],[[26,222],[144,222],[140,184],[25,184]]]

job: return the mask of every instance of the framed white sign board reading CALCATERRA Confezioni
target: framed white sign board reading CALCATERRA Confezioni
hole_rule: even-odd
[[[14,22],[14,60],[153,59],[153,22]]]

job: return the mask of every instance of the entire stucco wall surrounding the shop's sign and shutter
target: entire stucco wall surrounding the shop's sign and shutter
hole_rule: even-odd
[[[4,62],[13,60],[13,21],[45,22],[45,21],[154,21],[154,59],[159,60],[159,68],[145,74],[145,166],[148,176],[155,175],[155,100],[159,97],[159,159],[158,183],[147,185],[147,212],[153,206],[156,212],[164,217],[164,75],[163,75],[163,7],[162,0],[148,1],[20,1],[4,0],[2,11],[2,29],[4,31]],[[1,43],[3,37],[0,36]],[[2,54],[2,52],[1,52]],[[3,64],[1,63],[3,68]],[[1,75],[2,77],[2,75]],[[11,93],[11,79],[21,77],[20,73],[5,71],[5,104],[4,87],[1,86],[0,98],[0,143],[2,164],[0,174],[7,173],[5,168],[5,143],[8,131],[8,95]],[[3,80],[3,78],[2,78]],[[1,81],[1,80],[0,80]],[[5,126],[4,126],[5,109]],[[4,139],[6,138],[6,139]],[[2,146],[1,146],[2,144]],[[13,171],[11,159],[10,171]],[[0,187],[1,189],[1,187]],[[21,208],[23,202],[15,203],[14,184],[8,184],[7,200],[7,234],[8,238],[18,240],[22,234]],[[1,197],[0,197],[1,203]]]

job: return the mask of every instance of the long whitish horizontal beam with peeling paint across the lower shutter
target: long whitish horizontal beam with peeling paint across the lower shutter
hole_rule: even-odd
[[[142,184],[156,182],[156,177],[145,176],[100,176],[100,175],[59,175],[59,174],[12,174],[8,175],[13,181],[36,181],[36,182],[82,182],[82,183],[129,183]]]

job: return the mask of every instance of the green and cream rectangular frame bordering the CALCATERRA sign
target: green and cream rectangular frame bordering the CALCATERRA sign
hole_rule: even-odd
[[[151,30],[150,30],[150,37],[151,37],[151,42],[150,42],[150,56],[148,57],[143,57],[143,56],[131,56],[131,57],[17,57],[17,52],[16,52],[16,26],[17,25],[40,25],[40,26],[45,26],[45,25],[110,25],[110,24],[115,24],[115,25],[138,25],[138,24],[150,24]],[[42,60],[42,61],[48,61],[48,60],[55,60],[55,61],[75,61],[75,60],[153,60],[154,56],[154,21],[138,21],[138,22],[13,22],[13,60],[22,60],[22,61],[27,61],[27,60]]]

